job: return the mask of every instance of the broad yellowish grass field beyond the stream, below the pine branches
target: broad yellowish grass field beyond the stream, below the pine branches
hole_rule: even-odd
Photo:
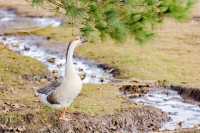
[[[124,44],[112,41],[93,42],[77,54],[120,70],[119,78],[168,80],[199,85],[200,80],[200,22],[176,23],[166,21],[156,31],[153,40],[137,44],[133,39]],[[69,26],[47,28],[33,32],[63,43],[72,39]]]

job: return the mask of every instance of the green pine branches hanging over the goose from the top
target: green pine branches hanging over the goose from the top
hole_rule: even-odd
[[[45,2],[64,10],[85,37],[97,34],[101,39],[124,41],[134,36],[144,41],[154,35],[152,27],[164,17],[187,18],[194,0],[32,0],[33,5]]]

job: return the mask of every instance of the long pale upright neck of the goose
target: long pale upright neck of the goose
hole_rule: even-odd
[[[67,47],[66,52],[66,63],[65,63],[65,78],[70,74],[75,72],[74,64],[73,64],[73,54],[74,54],[75,45],[70,43]]]

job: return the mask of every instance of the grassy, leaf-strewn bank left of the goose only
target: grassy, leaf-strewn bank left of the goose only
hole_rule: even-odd
[[[0,123],[23,125],[28,115],[42,120],[46,111],[34,96],[33,87],[39,84],[32,78],[47,75],[47,69],[38,61],[13,53],[2,44],[0,52]],[[34,124],[29,126],[34,127]]]

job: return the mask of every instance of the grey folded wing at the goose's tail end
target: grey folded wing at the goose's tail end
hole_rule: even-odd
[[[47,85],[47,86],[45,86],[45,87],[43,87],[41,89],[38,89],[37,92],[41,93],[41,94],[49,95],[54,90],[56,90],[56,88],[59,87],[60,85],[61,85],[61,82],[59,82],[59,81],[53,81],[49,85]]]

